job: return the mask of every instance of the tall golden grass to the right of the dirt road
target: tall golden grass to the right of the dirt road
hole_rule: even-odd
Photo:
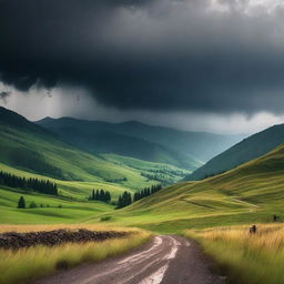
[[[283,284],[284,224],[260,224],[256,234],[248,227],[185,231],[185,235],[201,242],[232,283]]]

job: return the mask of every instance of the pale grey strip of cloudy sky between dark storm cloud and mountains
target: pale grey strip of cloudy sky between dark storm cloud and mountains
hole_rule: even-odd
[[[0,88],[1,83],[0,83]],[[141,121],[149,124],[171,126],[189,131],[206,131],[223,134],[252,134],[273,124],[283,123],[284,115],[258,112],[217,114],[192,111],[119,110],[102,105],[80,88],[53,88],[47,93],[43,89],[31,88],[29,95],[13,90],[4,105],[34,121],[45,116],[73,116],[78,119],[109,122]],[[80,101],[78,101],[80,98]],[[3,104],[0,101],[0,105]],[[34,108],[37,105],[37,108]]]

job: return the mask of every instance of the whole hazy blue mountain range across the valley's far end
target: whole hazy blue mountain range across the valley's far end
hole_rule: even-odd
[[[129,121],[108,123],[71,118],[45,118],[37,122],[64,141],[91,153],[115,153],[154,162],[196,169],[239,142],[243,135],[185,132]]]

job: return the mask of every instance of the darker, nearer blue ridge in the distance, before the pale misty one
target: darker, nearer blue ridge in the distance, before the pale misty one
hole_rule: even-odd
[[[38,123],[54,132],[63,141],[93,154],[113,153],[150,162],[168,163],[190,171],[202,165],[185,153],[131,133],[122,133],[114,128],[115,124],[68,118],[44,119]]]

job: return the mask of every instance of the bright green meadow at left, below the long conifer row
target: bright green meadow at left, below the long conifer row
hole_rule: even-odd
[[[17,209],[20,196],[24,196],[28,206],[34,201],[38,206],[42,204],[44,207]],[[113,206],[102,202],[72,201],[0,186],[0,223],[2,224],[80,223],[90,216],[112,211]]]

